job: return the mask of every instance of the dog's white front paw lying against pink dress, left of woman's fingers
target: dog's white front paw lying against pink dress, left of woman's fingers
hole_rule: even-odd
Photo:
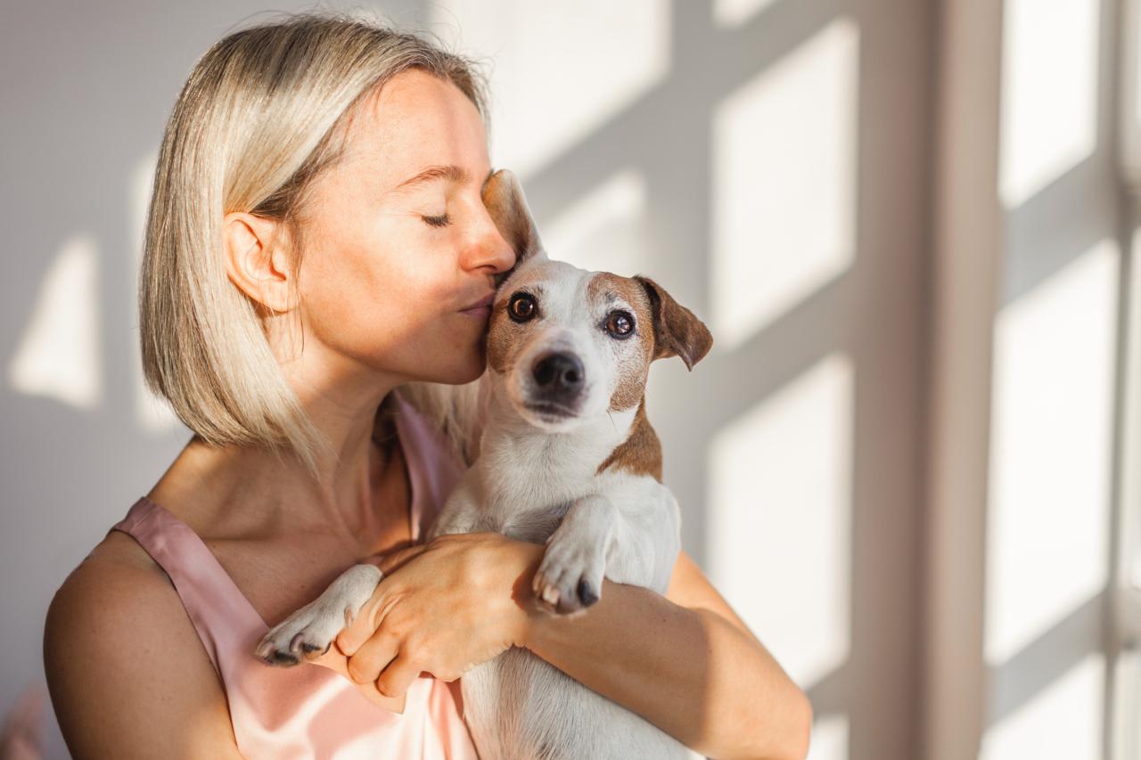
[[[270,665],[286,668],[301,662],[302,656],[311,660],[325,654],[337,634],[353,624],[380,577],[373,565],[345,571],[324,593],[269,629],[256,654]]]

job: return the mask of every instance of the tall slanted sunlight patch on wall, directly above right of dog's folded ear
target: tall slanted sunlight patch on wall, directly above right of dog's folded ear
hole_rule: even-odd
[[[731,350],[855,258],[859,29],[839,18],[713,116],[713,350]]]

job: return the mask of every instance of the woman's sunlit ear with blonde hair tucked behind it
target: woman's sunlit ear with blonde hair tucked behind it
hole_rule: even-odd
[[[290,293],[294,273],[278,223],[233,211],[224,218],[221,236],[226,273],[242,292],[270,312],[296,306]]]

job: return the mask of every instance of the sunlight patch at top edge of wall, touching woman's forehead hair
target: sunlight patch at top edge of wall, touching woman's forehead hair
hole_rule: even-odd
[[[669,72],[665,0],[446,0],[429,10],[443,40],[494,59],[492,165],[524,181]]]

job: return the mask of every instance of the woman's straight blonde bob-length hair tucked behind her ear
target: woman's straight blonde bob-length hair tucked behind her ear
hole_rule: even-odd
[[[138,306],[146,383],[203,440],[291,450],[314,477],[318,450],[335,456],[274,357],[259,305],[227,276],[222,218],[281,221],[299,267],[307,188],[342,156],[356,106],[408,68],[452,81],[487,123],[474,60],[358,14],[236,31],[191,72],[159,153]],[[477,386],[402,388],[469,462]]]

